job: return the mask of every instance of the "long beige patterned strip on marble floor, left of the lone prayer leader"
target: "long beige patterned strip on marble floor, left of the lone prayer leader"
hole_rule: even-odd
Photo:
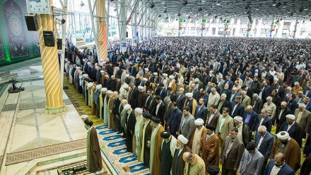
[[[30,149],[22,152],[8,153],[6,154],[6,166],[83,148],[86,148],[86,139]]]

